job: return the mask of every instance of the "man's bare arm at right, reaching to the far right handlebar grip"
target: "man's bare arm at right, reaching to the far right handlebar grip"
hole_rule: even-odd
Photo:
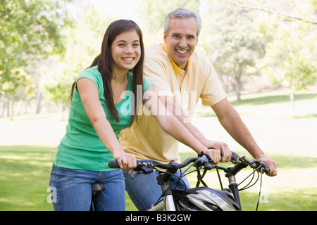
[[[277,174],[276,163],[266,157],[242,121],[240,115],[228,102],[228,99],[223,99],[223,101],[212,105],[211,108],[216,113],[220,124],[225,128],[228,134],[230,134],[237,143],[240,143],[242,147],[247,149],[253,158],[266,162],[271,169],[269,176],[275,176]]]

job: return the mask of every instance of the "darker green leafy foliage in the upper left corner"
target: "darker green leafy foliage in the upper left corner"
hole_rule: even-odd
[[[1,88],[0,94],[13,94],[23,84],[23,76],[19,74],[30,56],[63,52],[59,31],[67,23],[60,1],[1,0],[0,87],[6,82],[11,87]]]

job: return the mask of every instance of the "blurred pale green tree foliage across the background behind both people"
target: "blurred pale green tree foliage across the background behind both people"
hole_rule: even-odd
[[[316,25],[307,22],[316,20],[315,0],[140,2],[137,13],[146,46],[163,41],[168,12],[178,7],[199,12],[197,49],[209,56],[227,92],[235,91],[238,99],[253,75],[264,82],[292,85],[294,91],[316,81]],[[99,53],[104,31],[114,18],[88,0],[0,3],[2,111],[8,105],[4,98],[25,98],[21,89],[30,91],[25,101],[48,94],[50,104],[65,103],[70,85]],[[67,26],[70,20],[72,27]]]

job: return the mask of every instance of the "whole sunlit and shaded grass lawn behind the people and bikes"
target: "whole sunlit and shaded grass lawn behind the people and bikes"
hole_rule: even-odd
[[[275,98],[276,96],[276,98]],[[266,154],[278,163],[278,176],[263,176],[259,210],[317,210],[317,93],[299,94],[293,116],[287,94],[249,94],[232,105]],[[231,150],[248,155],[220,127],[210,108],[199,106],[193,124],[206,137],[225,141]],[[0,210],[53,210],[47,203],[51,161],[65,131],[59,115],[0,119]],[[183,159],[194,153],[180,145]],[[248,174],[243,172],[242,176]],[[195,174],[189,176],[194,185]],[[242,177],[237,177],[240,181]],[[204,179],[218,188],[216,172]],[[222,178],[226,183],[225,177]],[[241,193],[244,210],[255,210],[259,183]],[[127,210],[136,210],[127,196]]]

